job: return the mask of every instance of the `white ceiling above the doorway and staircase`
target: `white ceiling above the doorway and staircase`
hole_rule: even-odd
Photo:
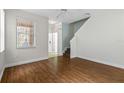
[[[26,12],[31,12],[40,16],[48,17],[50,20],[56,20],[63,23],[72,23],[90,15],[83,9],[67,9],[67,12],[62,13],[58,18],[57,16],[62,12],[61,9],[23,9]]]

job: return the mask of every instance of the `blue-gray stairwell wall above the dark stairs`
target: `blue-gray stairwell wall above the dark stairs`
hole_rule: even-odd
[[[74,34],[80,29],[80,27],[87,21],[88,18],[76,21],[70,24],[62,24],[62,50],[70,47],[70,40]]]

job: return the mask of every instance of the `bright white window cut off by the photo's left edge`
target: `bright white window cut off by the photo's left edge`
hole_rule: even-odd
[[[0,9],[0,52],[5,50],[4,10]]]

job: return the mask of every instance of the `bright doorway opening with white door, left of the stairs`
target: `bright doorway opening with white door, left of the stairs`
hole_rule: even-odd
[[[61,51],[62,25],[60,22],[49,20],[49,34],[48,34],[48,56],[56,57]]]

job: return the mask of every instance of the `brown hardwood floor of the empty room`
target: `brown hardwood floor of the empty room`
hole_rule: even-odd
[[[59,56],[6,68],[3,83],[124,82],[124,69]]]

